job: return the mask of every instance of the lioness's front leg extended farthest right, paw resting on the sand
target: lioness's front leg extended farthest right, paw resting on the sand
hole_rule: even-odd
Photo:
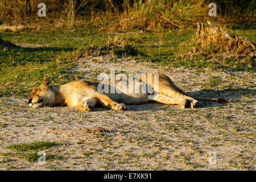
[[[119,104],[118,102],[113,101],[109,96],[106,94],[98,93],[96,96],[98,102],[102,104],[104,107],[109,107],[109,109],[113,110],[126,110],[125,104]]]

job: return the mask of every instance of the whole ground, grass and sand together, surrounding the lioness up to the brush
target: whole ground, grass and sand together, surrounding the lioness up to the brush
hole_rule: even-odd
[[[0,32],[16,45],[0,49],[1,170],[255,170],[255,55],[195,53],[195,28],[99,31],[78,21],[65,30],[43,23],[39,29]],[[233,32],[256,40],[254,27]],[[65,84],[96,80],[110,69],[164,73],[185,92],[228,104],[91,112],[26,104],[44,76]],[[46,152],[45,165],[38,151]],[[216,152],[216,164],[209,164],[209,152]]]

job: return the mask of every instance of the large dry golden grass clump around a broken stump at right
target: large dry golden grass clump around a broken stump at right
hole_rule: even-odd
[[[187,55],[189,58],[199,59],[200,57],[202,63],[214,68],[255,69],[254,43],[234,35],[232,30],[225,27],[210,27],[201,23],[200,28],[197,29],[196,38],[191,39],[187,50],[190,54]]]

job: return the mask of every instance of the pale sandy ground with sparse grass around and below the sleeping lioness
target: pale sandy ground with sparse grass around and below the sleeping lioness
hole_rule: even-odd
[[[40,166],[18,155],[0,155],[0,169],[255,170],[255,73],[163,68],[109,56],[84,57],[75,71],[97,78],[110,69],[164,73],[186,92],[223,97],[229,103],[200,102],[196,109],[144,104],[129,105],[126,111],[97,107],[81,112],[72,107],[32,109],[25,98],[2,97],[0,154],[15,154],[6,148],[10,144],[52,141],[57,145],[44,151],[60,158]],[[216,154],[216,164],[209,163],[209,152]]]

